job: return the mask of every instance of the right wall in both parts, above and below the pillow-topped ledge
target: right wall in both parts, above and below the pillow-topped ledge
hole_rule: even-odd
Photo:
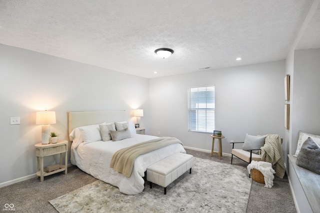
[[[320,48],[294,50],[290,61],[290,130],[288,154],[296,150],[299,130],[320,135]],[[293,66],[292,66],[293,64]],[[289,181],[298,212],[311,212],[300,182],[289,165]]]

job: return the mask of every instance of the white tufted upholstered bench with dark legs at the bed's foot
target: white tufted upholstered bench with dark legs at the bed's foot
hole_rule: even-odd
[[[164,187],[165,195],[166,187],[187,170],[191,174],[192,166],[192,155],[175,153],[150,165],[146,169],[146,180],[150,182],[150,189],[152,189],[152,183]]]

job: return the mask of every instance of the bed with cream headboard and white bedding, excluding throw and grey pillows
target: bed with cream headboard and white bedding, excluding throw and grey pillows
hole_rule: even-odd
[[[138,156],[134,160],[130,177],[118,173],[109,167],[116,151],[158,138],[136,134],[133,122],[126,122],[125,115],[123,110],[68,112],[69,139],[72,142],[70,161],[94,178],[117,187],[121,193],[136,195],[144,189],[143,177],[148,166],[174,153],[185,153],[185,150],[179,143],[171,144]],[[101,140],[97,134],[99,124],[112,122],[127,125],[131,136],[118,141]]]

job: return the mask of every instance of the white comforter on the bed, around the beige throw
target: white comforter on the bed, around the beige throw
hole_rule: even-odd
[[[173,144],[153,152],[140,155],[135,159],[129,178],[109,167],[113,154],[124,147],[157,138],[150,135],[133,134],[131,138],[121,141],[96,141],[71,145],[71,163],[82,171],[101,181],[116,186],[121,193],[136,195],[144,189],[144,171],[155,162],[174,153],[185,153],[181,144]]]

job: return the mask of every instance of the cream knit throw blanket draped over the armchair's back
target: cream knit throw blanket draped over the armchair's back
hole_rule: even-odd
[[[284,161],[281,145],[281,138],[276,134],[269,134],[265,138],[263,147],[261,147],[261,159],[275,165],[275,175],[279,178],[284,176]]]

